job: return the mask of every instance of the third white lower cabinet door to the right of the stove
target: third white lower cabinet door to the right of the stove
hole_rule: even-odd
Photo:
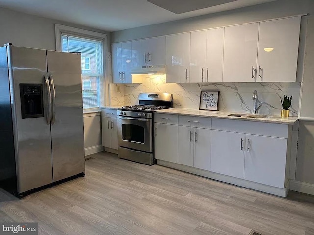
[[[210,170],[211,130],[194,129],[194,167]]]

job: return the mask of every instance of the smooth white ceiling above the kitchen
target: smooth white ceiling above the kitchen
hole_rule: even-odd
[[[0,0],[0,7],[112,32],[227,11],[275,0],[221,1],[227,3],[220,5],[215,5],[217,0],[202,1],[212,1],[214,6],[182,14],[175,14],[147,0]],[[179,9],[178,11],[183,12],[187,9],[192,8]]]

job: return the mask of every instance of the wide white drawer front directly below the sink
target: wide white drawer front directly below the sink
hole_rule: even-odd
[[[288,125],[284,124],[212,118],[211,129],[286,139],[288,138]]]

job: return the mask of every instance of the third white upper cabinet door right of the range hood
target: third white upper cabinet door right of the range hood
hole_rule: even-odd
[[[225,28],[207,30],[206,82],[222,82],[224,35]]]

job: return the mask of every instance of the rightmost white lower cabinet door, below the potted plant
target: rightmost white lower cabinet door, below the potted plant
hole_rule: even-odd
[[[246,135],[244,179],[285,187],[287,139]]]

